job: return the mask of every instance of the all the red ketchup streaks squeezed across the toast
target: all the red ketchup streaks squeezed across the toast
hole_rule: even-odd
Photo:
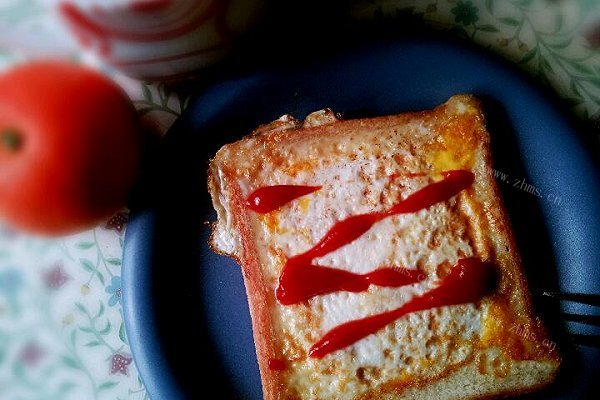
[[[291,305],[336,291],[361,292],[369,285],[399,287],[425,279],[420,271],[407,268],[383,267],[367,274],[355,274],[315,265],[312,261],[353,242],[384,218],[417,212],[446,201],[469,188],[474,181],[473,173],[465,170],[446,171],[442,176],[444,179],[441,181],[416,191],[387,211],[354,215],[335,223],[311,249],[287,260],[279,277],[277,300],[283,305]],[[294,185],[262,187],[248,196],[246,204],[258,213],[268,213],[320,188]],[[488,264],[477,259],[460,260],[436,289],[396,310],[334,328],[311,348],[309,354],[311,357],[324,357],[411,312],[477,301],[489,290],[492,276],[493,268]]]

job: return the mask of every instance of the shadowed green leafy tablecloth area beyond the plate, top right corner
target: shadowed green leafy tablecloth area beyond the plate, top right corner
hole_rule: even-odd
[[[360,1],[353,15],[377,19],[399,10],[515,62],[552,87],[580,117],[600,117],[600,48],[592,47],[582,31],[588,15],[600,14],[600,2]]]

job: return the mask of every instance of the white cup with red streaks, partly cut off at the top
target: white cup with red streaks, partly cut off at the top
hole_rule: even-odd
[[[61,0],[77,41],[134,78],[171,80],[213,64],[255,23],[264,0]]]

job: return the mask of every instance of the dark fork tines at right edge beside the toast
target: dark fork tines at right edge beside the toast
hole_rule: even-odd
[[[568,292],[552,292],[543,291],[538,293],[542,297],[560,302],[573,302],[579,304],[587,304],[590,306],[600,307],[599,294],[584,294],[584,293],[568,293]],[[561,312],[560,317],[563,321],[579,322],[586,325],[600,327],[600,315],[575,314],[570,312]],[[581,346],[598,347],[600,348],[600,334],[582,334],[569,332],[569,336],[575,344]]]

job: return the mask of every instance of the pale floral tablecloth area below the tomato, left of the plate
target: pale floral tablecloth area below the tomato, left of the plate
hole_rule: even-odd
[[[123,234],[0,229],[0,398],[148,398],[123,324]]]

